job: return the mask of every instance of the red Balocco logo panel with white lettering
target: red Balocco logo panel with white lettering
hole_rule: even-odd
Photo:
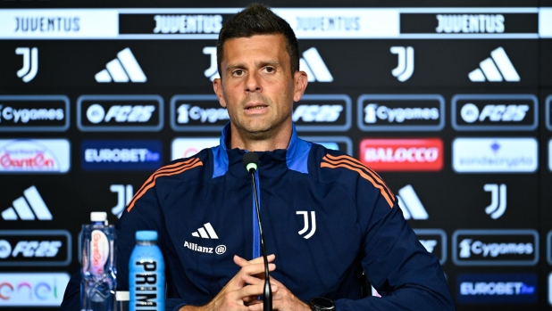
[[[364,139],[360,157],[379,171],[439,171],[443,168],[443,142],[439,138]]]

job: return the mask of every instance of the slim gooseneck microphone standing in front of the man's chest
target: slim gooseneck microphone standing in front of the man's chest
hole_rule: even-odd
[[[263,225],[261,225],[261,209],[259,208],[259,201],[257,200],[257,187],[255,184],[255,170],[259,167],[259,156],[249,151],[243,158],[244,167],[251,174],[251,181],[253,182],[253,196],[255,197],[255,207],[257,209],[257,221],[259,222],[259,233],[261,233],[261,250],[263,250],[264,259],[264,292],[263,292],[263,311],[272,311],[272,289],[270,277],[268,275],[268,258],[266,256],[266,249],[264,248],[264,236]]]

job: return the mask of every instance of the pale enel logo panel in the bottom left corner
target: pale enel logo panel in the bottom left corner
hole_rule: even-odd
[[[0,273],[0,307],[60,307],[67,273]]]

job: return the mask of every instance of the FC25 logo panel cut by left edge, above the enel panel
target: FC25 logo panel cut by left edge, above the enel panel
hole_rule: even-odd
[[[66,230],[0,230],[0,266],[68,266],[71,233]]]

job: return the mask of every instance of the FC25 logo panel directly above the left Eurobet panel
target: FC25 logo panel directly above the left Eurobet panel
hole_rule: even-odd
[[[157,132],[163,128],[159,95],[82,95],[77,127],[83,132]]]

